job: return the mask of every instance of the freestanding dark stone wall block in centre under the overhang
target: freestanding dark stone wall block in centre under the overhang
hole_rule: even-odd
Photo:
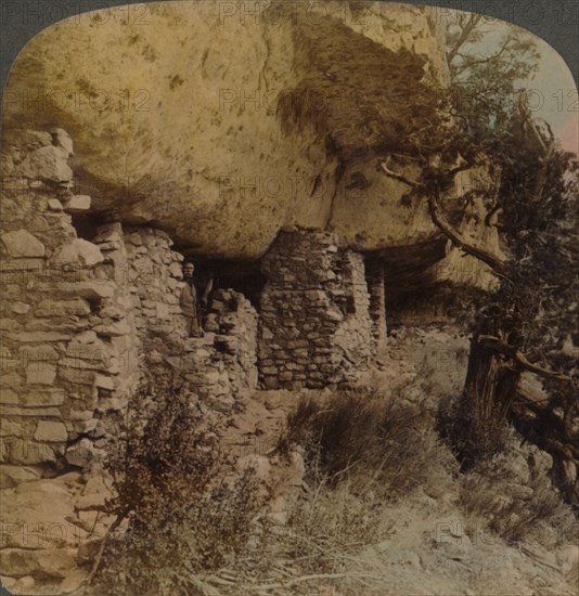
[[[362,255],[325,232],[282,232],[262,260],[259,373],[268,389],[323,387],[365,367],[375,346]]]

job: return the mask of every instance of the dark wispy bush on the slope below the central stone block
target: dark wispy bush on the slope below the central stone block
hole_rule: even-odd
[[[352,477],[383,496],[398,498],[452,466],[433,430],[425,402],[387,391],[357,388],[332,397],[306,397],[288,416],[281,449],[305,449],[307,479],[329,487]]]

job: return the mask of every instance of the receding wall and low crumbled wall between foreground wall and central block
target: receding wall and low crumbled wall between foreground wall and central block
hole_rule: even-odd
[[[149,226],[126,226],[123,243],[127,260],[118,265],[141,344],[138,366],[167,361],[209,410],[229,411],[257,386],[257,312],[243,295],[218,290],[205,313],[205,335],[188,337],[179,305],[183,256],[171,250],[165,232]]]

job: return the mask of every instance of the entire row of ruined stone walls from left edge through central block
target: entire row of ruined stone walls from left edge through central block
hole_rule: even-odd
[[[171,238],[118,221],[79,237],[74,217],[91,199],[74,194],[63,130],[12,131],[3,151],[0,575],[15,589],[40,575],[61,589],[86,573],[111,522],[107,442],[150,368],[180,375],[208,420],[258,376],[266,388],[346,383],[385,344],[384,281],[334,234],[282,233],[262,260],[259,319],[217,288],[204,336],[190,338]]]

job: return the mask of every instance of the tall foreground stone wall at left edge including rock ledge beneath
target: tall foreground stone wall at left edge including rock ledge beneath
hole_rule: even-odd
[[[40,578],[72,589],[86,573],[110,519],[100,462],[137,380],[126,293],[73,226],[90,197],[72,191],[72,152],[59,129],[4,137],[0,575],[16,594],[37,593]]]

